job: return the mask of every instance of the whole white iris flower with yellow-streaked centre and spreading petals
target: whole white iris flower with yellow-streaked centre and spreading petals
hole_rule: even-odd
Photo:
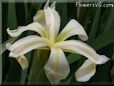
[[[104,55],[99,55],[86,43],[79,40],[66,40],[67,38],[78,35],[83,41],[88,36],[80,23],[71,19],[69,23],[59,33],[60,16],[55,10],[55,2],[49,7],[49,1],[43,10],[39,10],[33,18],[33,23],[18,27],[16,30],[7,29],[11,37],[20,36],[24,31],[35,31],[39,35],[30,35],[13,44],[7,43],[6,47],[10,51],[9,57],[16,58],[22,69],[28,67],[28,61],[24,54],[34,49],[49,49],[50,56],[44,66],[45,73],[51,84],[58,84],[65,79],[70,66],[64,52],[81,54],[87,57],[84,64],[76,71],[77,81],[88,81],[96,71],[96,64],[104,64],[109,59]]]

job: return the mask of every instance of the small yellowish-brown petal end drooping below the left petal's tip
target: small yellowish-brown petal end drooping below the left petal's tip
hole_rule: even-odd
[[[28,61],[24,55],[17,57],[16,60],[18,61],[23,70],[28,68]]]

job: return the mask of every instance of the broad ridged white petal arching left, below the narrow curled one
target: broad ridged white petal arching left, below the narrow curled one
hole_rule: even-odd
[[[31,35],[16,41],[12,45],[8,43],[6,48],[11,51],[9,54],[10,57],[18,57],[33,49],[44,46],[48,46],[48,41],[46,39]]]

